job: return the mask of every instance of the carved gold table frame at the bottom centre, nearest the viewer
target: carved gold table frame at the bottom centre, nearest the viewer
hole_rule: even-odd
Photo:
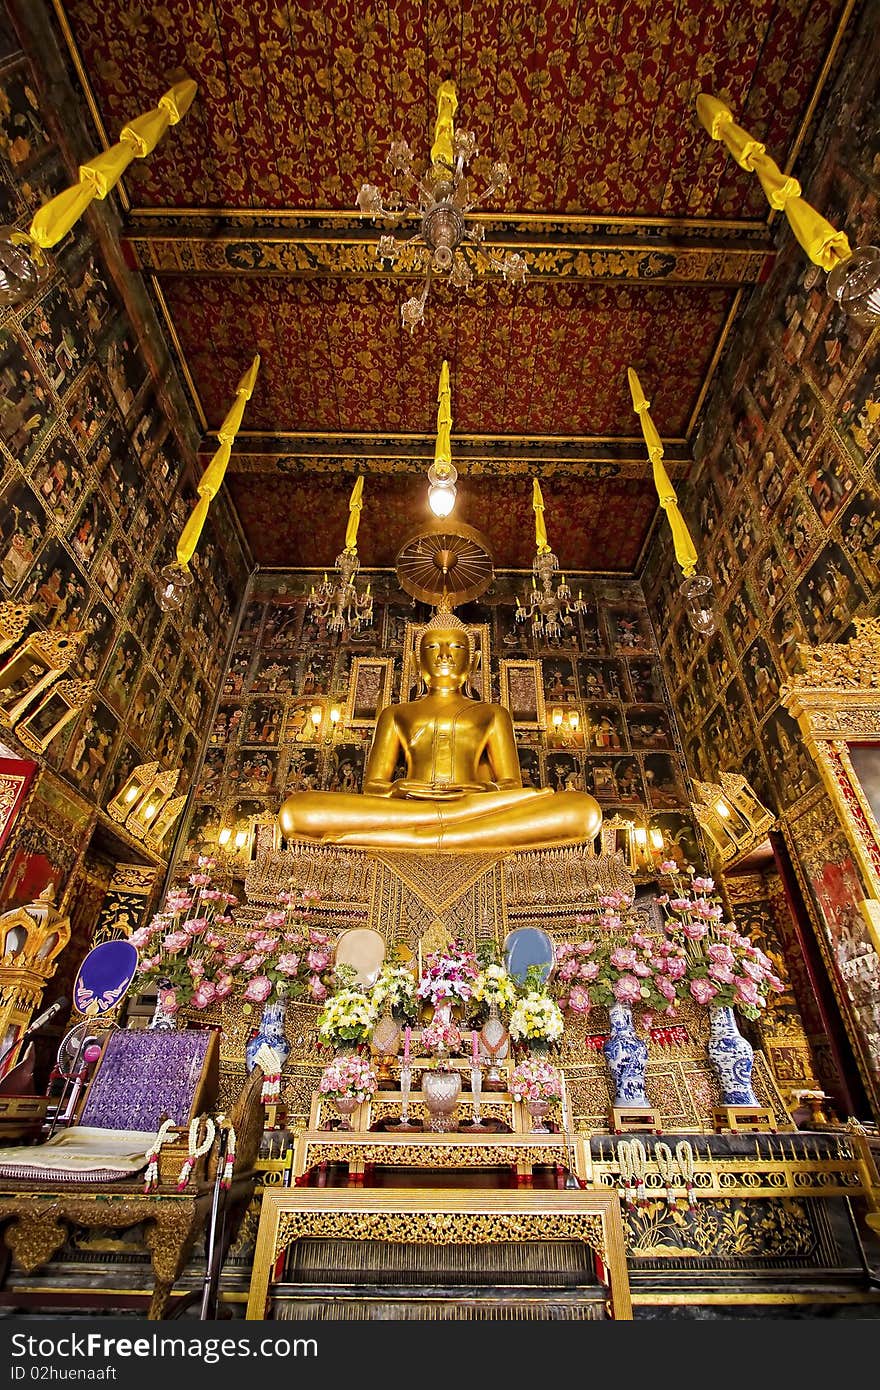
[[[263,1193],[247,1318],[266,1316],[278,1257],[295,1241],[385,1240],[402,1244],[499,1244],[578,1240],[605,1266],[612,1315],[630,1320],[620,1202],[610,1191],[523,1188],[271,1188]]]

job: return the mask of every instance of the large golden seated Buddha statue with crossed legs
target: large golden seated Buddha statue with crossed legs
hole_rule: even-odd
[[[381,849],[512,851],[582,844],[599,833],[599,803],[581,791],[523,787],[513,721],[503,706],[464,695],[471,637],[438,610],[418,644],[427,694],[378,719],[363,794],[302,791],[279,813],[291,840]],[[406,777],[392,781],[399,755]]]

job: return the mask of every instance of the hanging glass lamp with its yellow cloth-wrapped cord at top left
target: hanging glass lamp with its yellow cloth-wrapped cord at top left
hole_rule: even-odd
[[[122,128],[117,145],[79,165],[79,182],[44,203],[28,232],[0,228],[0,304],[29,299],[49,274],[43,250],[67,236],[89,203],[107,197],[132,160],[156,149],[168,126],[186,115],[197,90],[192,78],[175,82],[152,111]]]

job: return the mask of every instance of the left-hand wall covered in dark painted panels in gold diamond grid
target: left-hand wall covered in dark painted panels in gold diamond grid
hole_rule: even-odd
[[[3,221],[25,222],[46,195],[70,182],[50,125],[26,60],[7,44],[0,53]],[[185,460],[114,274],[86,224],[78,224],[53,252],[38,296],[17,310],[0,309],[0,596],[32,605],[31,631],[85,631],[82,655],[67,674],[96,681],[39,755],[57,778],[40,780],[7,847],[4,906],[28,901],[49,878],[60,892],[71,891],[68,876],[97,810],[133,766],[149,760],[154,739],[165,766],[185,755],[185,790],[243,591],[245,562],[222,505],[199,552],[199,602],[163,620],[153,600],[152,552],[160,537],[177,534],[172,509]],[[189,656],[177,677],[171,663],[157,664],[165,645]],[[186,703],[193,691],[197,708]],[[15,731],[4,738],[14,744]],[[85,821],[79,810],[74,817],[79,844],[61,828],[51,833],[65,821],[58,802],[65,784],[71,805],[90,808]],[[44,805],[50,785],[53,810]]]

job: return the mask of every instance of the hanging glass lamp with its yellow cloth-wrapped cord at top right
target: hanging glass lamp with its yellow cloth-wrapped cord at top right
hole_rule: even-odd
[[[880,320],[880,247],[852,250],[845,232],[831,227],[801,197],[797,178],[783,174],[760,140],[737,125],[730,107],[701,92],[696,114],[713,140],[727,146],[740,168],[756,174],[770,207],[784,213],[791,231],[812,260],[827,271],[826,289],[856,322],[873,328]]]

